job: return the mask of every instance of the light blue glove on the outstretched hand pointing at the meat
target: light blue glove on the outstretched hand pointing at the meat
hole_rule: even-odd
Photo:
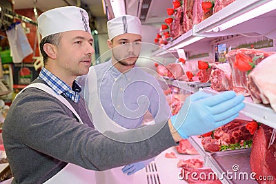
[[[244,108],[243,95],[233,91],[212,96],[204,92],[190,95],[184,105],[170,118],[179,135],[188,139],[192,135],[205,134],[237,118]]]

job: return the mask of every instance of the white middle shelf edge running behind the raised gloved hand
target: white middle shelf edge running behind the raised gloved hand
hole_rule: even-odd
[[[202,88],[202,90],[210,94],[219,93],[212,88]],[[250,96],[246,96],[244,103],[246,104],[246,107],[241,111],[242,114],[254,119],[255,121],[276,128],[276,113],[270,105],[254,103]]]

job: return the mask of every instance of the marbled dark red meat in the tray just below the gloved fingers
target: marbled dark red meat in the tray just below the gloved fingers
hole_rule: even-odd
[[[201,143],[207,152],[218,152],[221,145],[243,143],[253,139],[253,135],[246,129],[250,121],[234,119],[230,123],[218,127],[214,131],[214,139],[211,136],[203,137]]]

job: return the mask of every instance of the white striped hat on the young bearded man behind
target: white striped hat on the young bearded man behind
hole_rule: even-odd
[[[124,14],[111,19],[107,23],[108,37],[112,40],[120,34],[132,33],[141,35],[141,21],[138,17]]]

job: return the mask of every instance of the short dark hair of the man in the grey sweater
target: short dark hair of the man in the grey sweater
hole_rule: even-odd
[[[51,34],[51,35],[49,35],[49,36],[47,36],[47,37],[45,37],[41,40],[41,43],[40,43],[39,46],[40,46],[40,52],[41,52],[42,57],[43,57],[44,65],[47,63],[47,60],[48,60],[48,55],[43,50],[44,44],[45,43],[51,43],[51,44],[56,45],[57,47],[59,47],[60,41],[61,41],[61,33]]]

